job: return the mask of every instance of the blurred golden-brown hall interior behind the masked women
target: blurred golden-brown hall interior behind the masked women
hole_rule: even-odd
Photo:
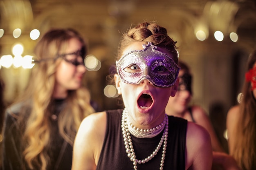
[[[24,45],[23,55],[31,55],[38,41],[29,38],[32,29],[41,36],[52,27],[74,28],[88,40],[89,54],[101,62],[100,70],[87,71],[84,79],[92,99],[102,110],[118,108],[117,98],[106,97],[103,89],[121,33],[131,24],[152,20],[168,29],[178,42],[180,59],[191,67],[192,102],[225,117],[236,104],[247,57],[256,48],[256,0],[0,0],[0,56],[11,54],[17,42]],[[16,28],[22,30],[19,38],[12,36]],[[208,34],[206,40],[195,37],[199,29]],[[217,30],[224,34],[221,42],[213,36]],[[237,42],[230,40],[230,32],[238,34]],[[8,104],[33,81],[29,69],[0,71]]]

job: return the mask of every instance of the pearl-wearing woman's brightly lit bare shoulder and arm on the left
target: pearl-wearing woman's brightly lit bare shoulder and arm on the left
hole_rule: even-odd
[[[106,112],[92,113],[83,119],[74,141],[72,170],[96,169],[105,132]]]

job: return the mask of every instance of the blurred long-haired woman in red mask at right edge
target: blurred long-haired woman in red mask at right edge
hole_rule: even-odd
[[[256,50],[249,56],[239,104],[227,113],[229,154],[243,170],[256,170]]]

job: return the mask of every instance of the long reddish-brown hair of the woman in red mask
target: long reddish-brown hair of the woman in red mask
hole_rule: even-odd
[[[249,56],[247,71],[256,62],[256,51]],[[232,155],[243,170],[252,170],[256,166],[256,99],[252,93],[251,82],[244,82],[243,97],[240,104],[239,121],[236,126],[237,135]]]

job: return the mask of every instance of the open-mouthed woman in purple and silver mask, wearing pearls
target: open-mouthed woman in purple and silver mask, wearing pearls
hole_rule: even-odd
[[[155,22],[123,35],[114,78],[125,108],[83,120],[72,170],[211,170],[208,132],[165,113],[177,90],[177,62],[175,42]]]

